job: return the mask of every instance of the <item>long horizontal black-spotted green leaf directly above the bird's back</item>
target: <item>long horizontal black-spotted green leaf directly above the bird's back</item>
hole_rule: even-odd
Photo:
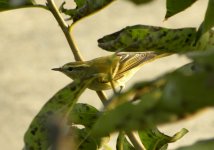
[[[98,43],[99,47],[107,51],[180,53],[204,50],[210,33],[202,36],[197,44],[195,44],[195,38],[195,28],[168,29],[135,25],[104,36],[98,40]]]

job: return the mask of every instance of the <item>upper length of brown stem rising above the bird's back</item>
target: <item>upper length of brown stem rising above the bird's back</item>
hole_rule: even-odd
[[[70,46],[70,48],[74,54],[75,60],[76,61],[82,61],[83,60],[82,56],[81,56],[78,48],[76,47],[76,45],[74,43],[73,37],[70,34],[71,28],[67,25],[65,20],[60,15],[60,12],[59,12],[58,8],[56,7],[56,4],[54,3],[54,1],[53,0],[47,0],[47,7],[50,9],[51,13],[53,14],[55,19],[59,23],[60,28],[64,32],[65,37],[68,41],[68,44],[69,44],[69,46]]]

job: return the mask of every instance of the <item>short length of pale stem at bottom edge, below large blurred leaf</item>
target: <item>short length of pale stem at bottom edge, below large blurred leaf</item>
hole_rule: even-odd
[[[132,142],[136,150],[145,150],[143,144],[137,139],[134,132],[126,132],[126,135],[129,137],[129,140]]]

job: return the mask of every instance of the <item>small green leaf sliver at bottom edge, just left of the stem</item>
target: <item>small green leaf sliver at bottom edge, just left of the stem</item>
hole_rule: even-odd
[[[135,148],[128,142],[124,132],[120,132],[117,138],[117,150],[135,150]]]

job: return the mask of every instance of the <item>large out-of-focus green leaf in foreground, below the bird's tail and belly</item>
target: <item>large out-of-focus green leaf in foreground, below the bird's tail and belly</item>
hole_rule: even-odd
[[[198,58],[192,56],[199,67],[191,67],[192,72],[181,68],[154,81],[138,83],[122,93],[129,95],[123,97],[125,103],[104,112],[92,128],[92,134],[102,137],[116,131],[143,130],[214,106],[214,50],[205,53],[198,52]],[[121,98],[116,95],[114,100],[119,100],[117,97]]]

